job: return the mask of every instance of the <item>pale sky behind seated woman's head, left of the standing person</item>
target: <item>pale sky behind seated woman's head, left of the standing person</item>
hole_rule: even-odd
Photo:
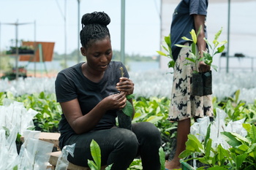
[[[18,39],[56,42],[57,53],[78,49],[78,1],[66,1],[67,44],[65,45],[65,0],[0,0],[1,50],[15,39],[15,26],[5,23],[31,23],[18,26]],[[159,0],[129,0],[126,6],[125,51],[129,54],[154,55],[159,50]],[[104,11],[113,50],[121,47],[121,0],[80,0],[80,18],[85,13]],[[34,31],[34,22],[35,30]],[[80,22],[80,20],[79,20]],[[81,28],[81,24],[79,24]],[[35,38],[34,38],[35,36]]]

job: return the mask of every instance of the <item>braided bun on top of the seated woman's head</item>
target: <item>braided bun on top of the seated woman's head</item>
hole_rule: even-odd
[[[110,17],[105,12],[91,12],[83,15],[81,21],[84,26],[92,23],[108,26],[110,23]]]

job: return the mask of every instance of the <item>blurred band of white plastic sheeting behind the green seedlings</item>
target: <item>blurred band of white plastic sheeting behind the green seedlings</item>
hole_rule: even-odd
[[[213,95],[220,100],[233,96],[236,90],[240,91],[239,100],[253,103],[256,99],[256,72],[212,72]],[[135,96],[167,97],[170,98],[173,85],[173,74],[156,69],[146,72],[130,72],[130,79],[135,83]],[[28,77],[18,81],[0,80],[0,92],[10,91],[15,96],[25,93],[55,93],[56,78]]]

